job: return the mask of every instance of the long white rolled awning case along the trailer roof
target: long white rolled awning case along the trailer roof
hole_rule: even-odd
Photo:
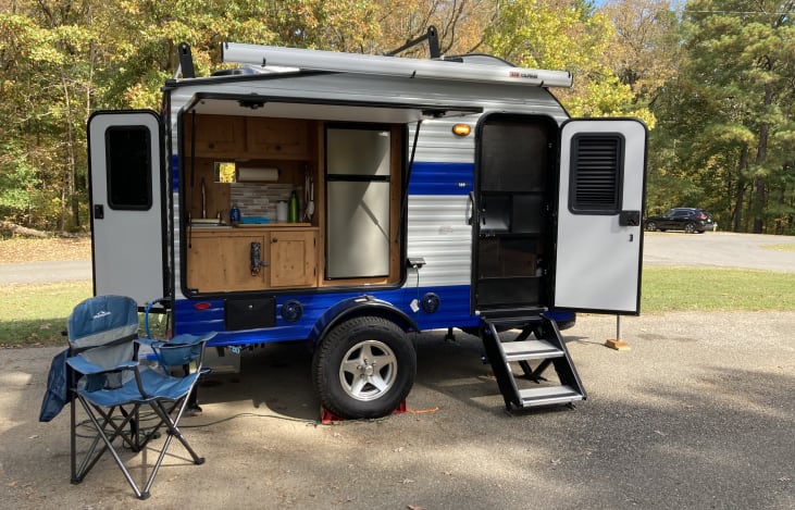
[[[459,82],[508,84],[535,87],[571,87],[568,71],[495,66],[445,60],[341,53],[335,51],[278,48],[273,46],[224,42],[224,62],[249,65],[277,65],[308,71],[376,74]]]

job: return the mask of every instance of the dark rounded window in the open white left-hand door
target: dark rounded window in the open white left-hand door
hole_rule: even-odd
[[[152,207],[151,139],[146,126],[112,126],[105,130],[108,206],[145,211]]]

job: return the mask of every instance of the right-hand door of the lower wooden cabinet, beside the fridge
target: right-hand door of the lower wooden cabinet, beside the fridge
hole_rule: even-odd
[[[314,231],[271,232],[271,286],[307,287],[316,283]]]

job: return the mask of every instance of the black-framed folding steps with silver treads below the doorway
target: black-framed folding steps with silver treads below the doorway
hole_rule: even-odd
[[[509,411],[512,407],[526,409],[566,405],[587,398],[555,321],[543,314],[500,316],[483,318],[483,325],[481,339]],[[517,328],[522,329],[517,339],[502,341],[500,331]],[[538,361],[535,369],[530,366],[530,361]],[[511,362],[518,362],[535,385],[520,387]],[[545,381],[542,373],[549,366],[555,368],[559,383],[541,385]],[[526,384],[530,382],[524,381]]]

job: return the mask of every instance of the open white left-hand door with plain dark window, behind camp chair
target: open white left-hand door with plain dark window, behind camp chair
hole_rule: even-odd
[[[88,121],[94,293],[139,306],[165,295],[160,117],[98,112]]]

